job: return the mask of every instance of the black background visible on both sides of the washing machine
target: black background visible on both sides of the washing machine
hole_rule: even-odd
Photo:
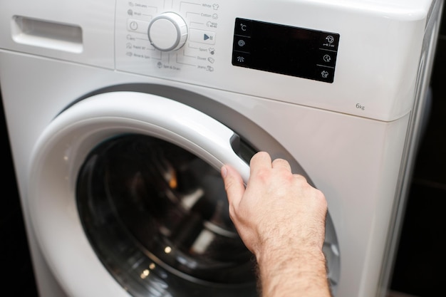
[[[419,297],[438,296],[445,287],[446,258],[442,244],[446,235],[443,217],[446,209],[445,23],[442,22],[440,29],[432,73],[430,118],[420,142],[391,282],[393,291]],[[4,289],[9,288],[12,296],[36,297],[3,105],[0,105],[0,141],[3,178],[0,198],[0,211],[3,212],[0,215],[0,263],[3,273],[0,284]]]

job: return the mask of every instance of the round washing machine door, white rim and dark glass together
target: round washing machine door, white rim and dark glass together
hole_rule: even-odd
[[[28,182],[56,278],[69,296],[256,296],[253,257],[219,177],[230,164],[246,182],[254,153],[214,118],[157,95],[111,92],[72,105],[39,138]]]

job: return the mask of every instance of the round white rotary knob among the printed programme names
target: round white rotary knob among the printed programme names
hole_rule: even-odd
[[[160,51],[176,51],[185,45],[187,25],[184,19],[173,12],[156,16],[147,30],[152,46]]]

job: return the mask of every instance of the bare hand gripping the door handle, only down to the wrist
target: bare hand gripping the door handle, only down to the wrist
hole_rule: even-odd
[[[259,152],[251,159],[244,188],[234,168],[222,167],[229,215],[247,248],[257,257],[265,247],[321,250],[325,237],[326,199],[286,160]]]

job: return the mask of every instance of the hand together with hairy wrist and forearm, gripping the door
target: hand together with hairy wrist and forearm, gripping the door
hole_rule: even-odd
[[[222,167],[229,216],[259,264],[263,297],[329,297],[325,238],[327,202],[286,160],[258,152],[245,189],[234,168]]]

